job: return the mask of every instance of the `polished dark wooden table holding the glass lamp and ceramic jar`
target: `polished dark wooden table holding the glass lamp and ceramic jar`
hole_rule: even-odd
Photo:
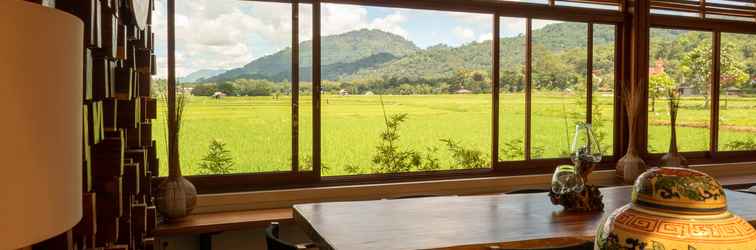
[[[605,212],[564,213],[546,193],[328,202],[294,206],[294,220],[324,249],[427,249],[591,237],[631,187],[603,188]],[[756,221],[756,195],[727,190],[730,211]]]

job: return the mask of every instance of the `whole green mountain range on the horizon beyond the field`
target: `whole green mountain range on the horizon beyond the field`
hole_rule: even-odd
[[[607,47],[606,49],[611,51],[608,46],[614,41],[613,27],[610,25],[594,27],[594,46]],[[577,51],[575,53],[578,55],[581,51],[585,54],[586,33],[586,24],[573,22],[549,24],[534,30],[534,55],[570,50]],[[524,34],[500,39],[503,68],[517,67],[524,62],[524,41]],[[321,79],[323,80],[350,81],[385,77],[442,79],[453,75],[455,69],[489,71],[491,65],[491,40],[470,42],[458,47],[439,44],[422,49],[396,34],[361,29],[324,36],[321,46]],[[576,50],[579,48],[583,49]],[[312,41],[300,43],[299,52],[300,80],[311,81]],[[201,71],[191,74],[192,78],[187,78],[197,82],[216,83],[242,78],[288,81],[291,75],[291,53],[291,48],[286,48],[255,59],[239,68],[229,69],[222,73]],[[215,74],[209,74],[210,72]]]

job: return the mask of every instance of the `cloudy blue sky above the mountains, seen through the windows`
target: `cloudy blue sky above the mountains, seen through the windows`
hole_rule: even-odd
[[[236,0],[176,3],[176,71],[184,76],[200,69],[231,69],[291,45],[291,5]],[[158,77],[166,75],[165,0],[154,15]],[[312,37],[312,8],[300,10],[300,39]],[[491,40],[491,15],[323,4],[322,34],[379,29],[400,35],[421,48],[461,46]],[[541,28],[551,22],[534,22]],[[503,18],[501,35],[524,32],[524,19]]]

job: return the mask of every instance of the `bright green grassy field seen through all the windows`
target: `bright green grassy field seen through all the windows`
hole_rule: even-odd
[[[383,96],[388,115],[406,113],[408,120],[400,126],[399,147],[413,149],[438,158],[442,169],[454,168],[451,154],[441,139],[453,139],[465,148],[491,154],[490,95]],[[569,150],[574,125],[584,121],[585,103],[568,93],[534,92],[533,147],[542,150],[542,158],[553,158]],[[234,157],[234,172],[265,172],[290,169],[291,104],[288,97],[227,97],[216,100],[191,97],[185,109],[181,132],[181,165],[185,175],[202,174],[198,165],[212,139],[227,143]],[[312,155],[312,105],[308,96],[300,100],[300,159],[303,167]],[[649,145],[653,152],[664,152],[669,145],[669,128],[664,125],[666,103],[657,101],[656,112],[649,113]],[[595,111],[601,111],[597,114]],[[167,173],[165,161],[165,107],[153,125],[158,141],[161,174]],[[522,93],[502,94],[500,98],[500,143],[509,143],[509,153],[521,152],[524,138],[525,99]],[[605,154],[611,154],[613,98],[611,94],[594,95],[594,128],[603,133]],[[702,98],[685,98],[680,110],[678,143],[682,151],[708,148],[709,109]],[[756,139],[756,98],[730,98],[722,110],[720,140],[724,144],[743,138]],[[369,173],[375,164],[372,157],[385,129],[379,96],[324,95],[322,100],[322,160],[325,175],[346,175],[347,167]],[[750,130],[749,130],[750,129]],[[435,149],[434,149],[435,148]],[[435,150],[435,151],[433,151]],[[535,149],[534,149],[535,150]],[[435,153],[429,153],[435,152]],[[504,154],[502,154],[504,155]],[[521,159],[521,154],[504,160]]]

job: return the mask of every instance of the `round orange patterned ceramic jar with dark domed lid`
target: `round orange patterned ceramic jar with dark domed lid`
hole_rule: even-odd
[[[756,230],[727,211],[722,186],[685,168],[654,168],[635,182],[632,202],[599,224],[595,249],[755,250]]]

